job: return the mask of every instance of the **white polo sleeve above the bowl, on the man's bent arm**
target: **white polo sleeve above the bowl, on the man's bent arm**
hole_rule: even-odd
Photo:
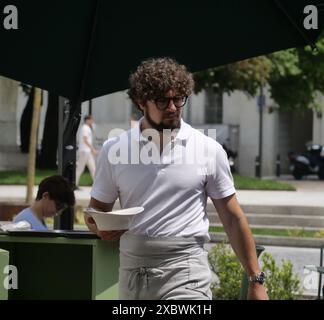
[[[96,175],[91,190],[91,197],[104,203],[112,203],[118,198],[113,165],[108,159],[108,151],[112,143],[111,140],[106,141],[99,153]]]

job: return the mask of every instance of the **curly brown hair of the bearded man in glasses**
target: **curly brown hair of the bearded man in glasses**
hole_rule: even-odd
[[[184,65],[171,58],[144,60],[129,77],[128,95],[138,107],[138,101],[163,97],[169,90],[189,96],[194,88],[193,76]]]

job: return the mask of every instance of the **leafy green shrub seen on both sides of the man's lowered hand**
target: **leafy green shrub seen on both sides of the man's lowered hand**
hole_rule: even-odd
[[[212,284],[213,299],[237,300],[244,270],[230,246],[221,243],[209,251],[209,263],[218,281]],[[262,270],[267,274],[266,289],[271,300],[292,300],[300,292],[300,280],[293,273],[290,260],[277,266],[270,253],[261,256]]]

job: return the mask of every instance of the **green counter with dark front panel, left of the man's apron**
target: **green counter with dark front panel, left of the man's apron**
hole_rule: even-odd
[[[118,246],[89,233],[0,234],[18,269],[18,289],[8,298],[118,299]]]

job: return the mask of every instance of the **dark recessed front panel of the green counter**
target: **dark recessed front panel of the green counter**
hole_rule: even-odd
[[[18,289],[9,299],[91,299],[90,246],[7,243],[10,264],[18,269]]]

